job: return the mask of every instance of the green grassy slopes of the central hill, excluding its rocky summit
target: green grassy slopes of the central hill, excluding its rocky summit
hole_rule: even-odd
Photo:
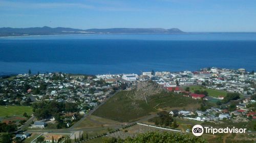
[[[183,97],[180,94],[160,93],[144,100],[134,100],[133,91],[120,91],[100,106],[93,114],[118,122],[131,122],[139,117],[157,112],[159,108],[184,107],[197,105],[197,100]]]

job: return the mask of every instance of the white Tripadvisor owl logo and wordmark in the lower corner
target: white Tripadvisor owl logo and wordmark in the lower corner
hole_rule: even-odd
[[[195,125],[192,128],[192,133],[195,136],[201,136],[203,133],[210,133],[210,134],[215,134],[215,133],[245,133],[246,129],[245,128],[212,128],[212,127],[202,127],[201,125]]]

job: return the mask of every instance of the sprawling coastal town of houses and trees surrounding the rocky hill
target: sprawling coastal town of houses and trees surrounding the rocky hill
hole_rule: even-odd
[[[20,112],[20,116],[1,116],[0,124],[15,125],[10,132],[16,130],[13,139],[16,142],[26,141],[36,130],[42,130],[42,134],[30,142],[40,139],[46,142],[63,142],[67,138],[88,139],[88,135],[86,137],[80,132],[67,136],[45,133],[44,129],[68,128],[73,131],[74,126],[78,126],[80,121],[117,92],[132,90],[138,82],[145,81],[153,81],[167,92],[200,101],[201,106],[197,110],[167,111],[173,117],[213,123],[256,120],[256,73],[244,68],[233,70],[211,67],[176,73],[152,70],[141,72],[141,75],[31,74],[29,70],[28,74],[3,76],[0,78],[1,110],[15,106],[17,110],[19,107],[29,107],[32,111]]]

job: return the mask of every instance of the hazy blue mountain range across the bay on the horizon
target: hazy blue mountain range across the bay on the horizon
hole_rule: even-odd
[[[110,29],[73,29],[73,28],[0,28],[0,37],[4,36],[32,36],[32,35],[69,35],[69,34],[171,34],[184,33],[183,31],[172,28],[110,28]]]

